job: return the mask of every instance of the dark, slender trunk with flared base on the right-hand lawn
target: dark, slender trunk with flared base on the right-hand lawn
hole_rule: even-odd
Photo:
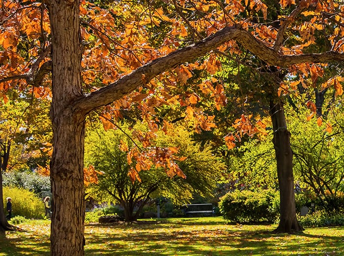
[[[270,102],[270,116],[274,130],[273,143],[277,160],[277,174],[281,200],[280,223],[275,231],[287,233],[299,232],[302,231],[302,227],[296,219],[290,133],[287,129],[282,102]]]

